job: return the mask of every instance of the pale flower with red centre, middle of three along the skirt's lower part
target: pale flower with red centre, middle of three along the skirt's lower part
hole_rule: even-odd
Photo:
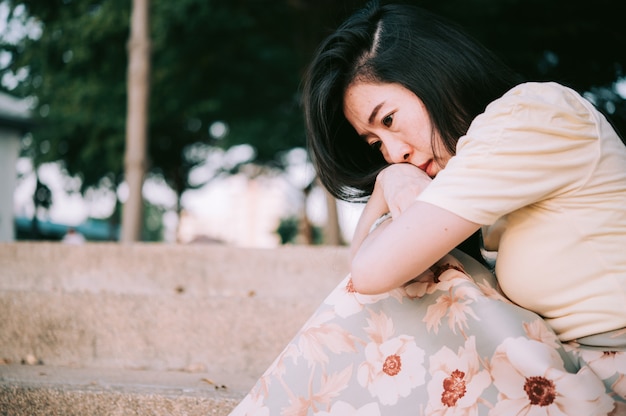
[[[475,338],[465,341],[465,346],[455,354],[443,347],[430,357],[428,383],[428,406],[426,414],[477,415],[478,401],[482,392],[491,384],[486,369],[480,369]]]

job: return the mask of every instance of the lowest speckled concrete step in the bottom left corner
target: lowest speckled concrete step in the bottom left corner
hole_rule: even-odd
[[[245,392],[206,373],[0,366],[0,415],[226,416]]]

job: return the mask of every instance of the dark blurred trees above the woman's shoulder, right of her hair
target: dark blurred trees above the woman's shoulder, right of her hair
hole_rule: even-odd
[[[458,22],[529,80],[586,94],[626,134],[625,4],[614,0],[413,1]],[[624,88],[624,87],[622,87]]]

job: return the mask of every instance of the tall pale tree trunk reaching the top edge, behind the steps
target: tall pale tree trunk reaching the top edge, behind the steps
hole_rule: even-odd
[[[128,107],[125,180],[128,199],[122,209],[122,242],[139,241],[142,231],[142,187],[146,171],[150,77],[149,0],[133,0],[128,43]]]

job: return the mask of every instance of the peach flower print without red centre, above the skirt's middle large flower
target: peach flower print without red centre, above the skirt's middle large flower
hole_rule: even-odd
[[[471,316],[477,321],[480,319],[474,314],[469,306],[479,296],[479,290],[471,285],[459,286],[456,290],[449,290],[448,294],[441,295],[434,304],[426,310],[426,316],[422,319],[426,323],[428,331],[439,332],[441,320],[447,315],[448,326],[456,334],[456,327],[467,328],[467,317]]]

